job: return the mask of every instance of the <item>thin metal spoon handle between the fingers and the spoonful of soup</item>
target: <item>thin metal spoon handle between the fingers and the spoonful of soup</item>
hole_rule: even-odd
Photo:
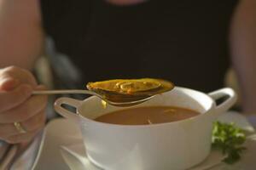
[[[91,94],[96,95],[96,93],[91,92],[89,90],[40,90],[40,91],[33,91],[32,94]]]

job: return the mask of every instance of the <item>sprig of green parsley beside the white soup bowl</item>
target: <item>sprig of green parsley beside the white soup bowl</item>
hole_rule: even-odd
[[[214,122],[212,130],[212,148],[222,150],[224,162],[235,163],[241,158],[241,152],[246,150],[242,144],[246,140],[244,131],[234,123]]]

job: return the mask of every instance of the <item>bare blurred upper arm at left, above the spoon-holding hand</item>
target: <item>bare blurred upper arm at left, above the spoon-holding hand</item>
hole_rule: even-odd
[[[40,18],[39,0],[0,0],[0,68],[32,69],[44,46]]]

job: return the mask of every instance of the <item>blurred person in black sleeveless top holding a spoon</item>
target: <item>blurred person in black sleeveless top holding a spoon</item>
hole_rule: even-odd
[[[61,54],[50,59],[55,74],[69,88],[159,77],[210,92],[233,66],[243,112],[256,113],[255,16],[253,0],[0,0],[0,139],[30,141],[44,127],[47,98],[32,90],[45,87],[32,69],[46,37]]]

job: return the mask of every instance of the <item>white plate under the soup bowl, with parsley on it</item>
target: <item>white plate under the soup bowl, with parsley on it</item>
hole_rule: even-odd
[[[253,133],[253,127],[247,122],[244,116],[236,112],[229,112],[219,117],[222,122],[235,122],[237,126]],[[222,159],[221,153],[212,151],[207,160],[194,170],[206,169],[212,167],[211,170],[254,170],[256,169],[256,135],[252,135],[247,139],[247,150],[242,155],[241,161],[235,165],[227,166],[224,163],[218,163]],[[62,154],[62,156],[61,156]],[[55,119],[47,125],[44,132],[44,139],[40,147],[37,161],[34,165],[35,170],[99,170],[86,159],[83,141],[79,132],[79,127],[67,119]]]

